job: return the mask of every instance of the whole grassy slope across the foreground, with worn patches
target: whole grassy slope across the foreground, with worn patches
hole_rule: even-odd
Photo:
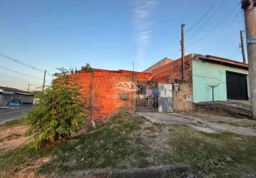
[[[197,177],[256,174],[255,137],[232,133],[206,134],[184,125],[147,122],[147,127],[144,127],[144,121],[143,117],[120,113],[97,130],[63,140],[55,147],[35,150],[33,145],[26,144],[13,150],[1,150],[0,175],[11,177],[24,167],[33,166],[42,157],[51,159],[34,171],[46,177],[50,174],[62,177],[79,170],[174,163],[192,167]],[[158,143],[162,139],[166,142]],[[152,143],[154,147],[150,147]],[[155,147],[158,144],[159,147]],[[154,161],[150,162],[148,158]]]

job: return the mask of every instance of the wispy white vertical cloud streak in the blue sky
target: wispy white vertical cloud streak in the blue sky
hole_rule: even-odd
[[[137,31],[137,59],[139,63],[144,62],[147,46],[152,38],[151,14],[157,0],[136,0],[134,8],[134,23]]]

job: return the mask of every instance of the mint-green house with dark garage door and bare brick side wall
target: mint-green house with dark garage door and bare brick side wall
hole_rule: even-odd
[[[248,65],[217,56],[189,54],[183,61],[183,80],[189,85],[177,101],[199,103],[212,100],[249,100]],[[182,59],[152,70],[152,79],[162,83],[182,80]],[[179,92],[177,92],[179,93]],[[185,104],[182,105],[185,105]],[[191,105],[190,105],[191,106]],[[181,107],[183,108],[183,107]]]

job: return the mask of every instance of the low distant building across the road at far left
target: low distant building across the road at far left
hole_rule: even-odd
[[[29,93],[16,88],[0,86],[0,105],[7,105],[11,100],[20,100],[24,104],[32,104],[34,100],[34,93]]]

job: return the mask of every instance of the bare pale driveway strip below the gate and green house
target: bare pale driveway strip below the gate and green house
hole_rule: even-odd
[[[224,117],[199,113],[138,112],[148,120],[167,125],[189,125],[207,133],[233,132],[238,135],[256,136],[256,120]]]

